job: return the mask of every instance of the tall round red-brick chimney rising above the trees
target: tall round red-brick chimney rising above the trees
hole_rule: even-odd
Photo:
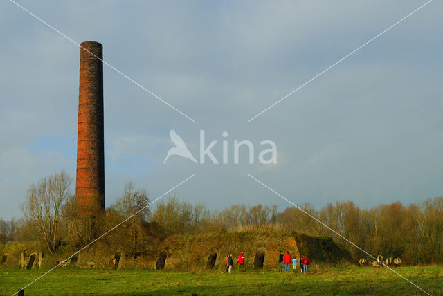
[[[103,46],[95,41],[81,46],[75,207],[79,216],[96,216],[105,210]]]

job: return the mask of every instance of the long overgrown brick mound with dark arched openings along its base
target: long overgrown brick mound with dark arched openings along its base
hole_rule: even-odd
[[[25,261],[34,252],[44,252],[41,268],[52,268],[59,261],[71,256],[77,249],[73,246],[60,248],[53,255],[42,246],[29,243],[8,243],[0,246],[0,256],[7,254],[0,268],[19,268],[21,253]],[[175,235],[161,241],[155,252],[134,257],[127,252],[114,250],[98,241],[80,252],[78,256],[63,263],[62,268],[105,268],[105,269],[157,269],[157,270],[224,270],[226,257],[244,252],[245,270],[274,269],[278,266],[280,250],[289,251],[291,257],[309,257],[311,263],[351,262],[349,252],[338,248],[330,237],[309,237],[305,234],[278,233],[268,231],[219,232],[199,235]],[[1,259],[1,258],[0,258]],[[37,261],[32,268],[37,267]]]

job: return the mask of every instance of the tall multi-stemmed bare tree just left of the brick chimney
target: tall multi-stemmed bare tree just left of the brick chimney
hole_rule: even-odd
[[[33,223],[53,252],[60,245],[60,214],[66,199],[71,195],[72,178],[66,172],[55,173],[30,185],[26,201],[21,207],[25,218]]]

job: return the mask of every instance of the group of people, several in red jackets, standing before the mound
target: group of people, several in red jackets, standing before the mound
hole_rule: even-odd
[[[286,251],[286,254],[283,253],[283,251],[280,251],[280,256],[278,257],[278,271],[282,272],[282,267],[284,264],[284,272],[289,272],[289,266],[292,262],[292,270],[293,272],[296,272],[297,269],[297,259],[294,256],[291,259],[291,255],[289,254],[289,251]],[[309,265],[309,259],[306,256],[300,255],[300,272],[307,272],[307,266]],[[229,254],[226,257],[226,272],[230,273],[233,271],[233,255]],[[237,266],[238,271],[243,271],[243,265],[244,265],[244,254],[243,252],[240,252],[240,255],[238,255],[237,258]]]

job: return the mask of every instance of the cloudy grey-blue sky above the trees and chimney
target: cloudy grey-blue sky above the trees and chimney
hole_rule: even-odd
[[[195,120],[104,66],[106,206],[132,181],[210,210],[233,204],[320,209],[418,203],[443,195],[443,3],[432,1],[247,122],[426,1],[24,1],[26,10]],[[26,191],[73,177],[80,48],[0,1],[0,217]],[[199,160],[200,131],[221,162],[171,156],[174,129]],[[222,133],[228,136],[223,137]],[[235,140],[249,140],[234,164]],[[277,163],[262,165],[262,140]]]

